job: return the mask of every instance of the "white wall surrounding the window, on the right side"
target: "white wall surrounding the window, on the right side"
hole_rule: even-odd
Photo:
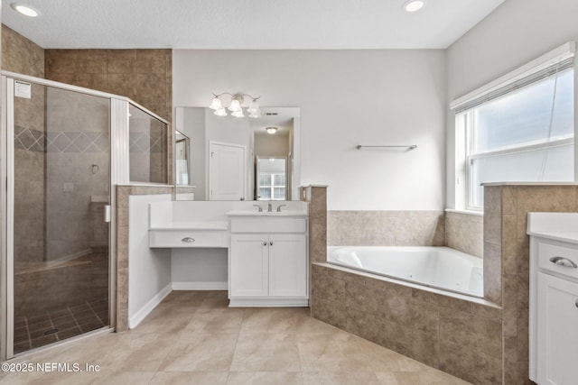
[[[576,0],[504,2],[447,50],[448,104],[566,41],[578,41],[577,20]],[[578,91],[578,77],[576,82]],[[574,110],[578,111],[576,96]],[[447,114],[446,200],[453,207],[455,125],[452,112],[448,110]],[[578,156],[575,158],[578,160]]]

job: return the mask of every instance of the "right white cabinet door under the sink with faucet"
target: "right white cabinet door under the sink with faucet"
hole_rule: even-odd
[[[307,296],[304,234],[269,235],[269,296]]]

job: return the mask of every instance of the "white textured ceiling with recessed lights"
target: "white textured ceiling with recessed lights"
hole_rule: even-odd
[[[45,49],[445,49],[504,0],[18,0],[2,22]]]

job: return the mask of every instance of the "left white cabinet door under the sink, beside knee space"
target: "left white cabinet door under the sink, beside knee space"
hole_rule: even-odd
[[[269,292],[266,234],[231,235],[231,297],[264,297]]]

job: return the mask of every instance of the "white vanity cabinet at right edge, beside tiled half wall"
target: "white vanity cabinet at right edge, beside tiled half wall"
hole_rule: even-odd
[[[564,214],[528,215],[529,378],[540,385],[578,379],[578,215]]]

